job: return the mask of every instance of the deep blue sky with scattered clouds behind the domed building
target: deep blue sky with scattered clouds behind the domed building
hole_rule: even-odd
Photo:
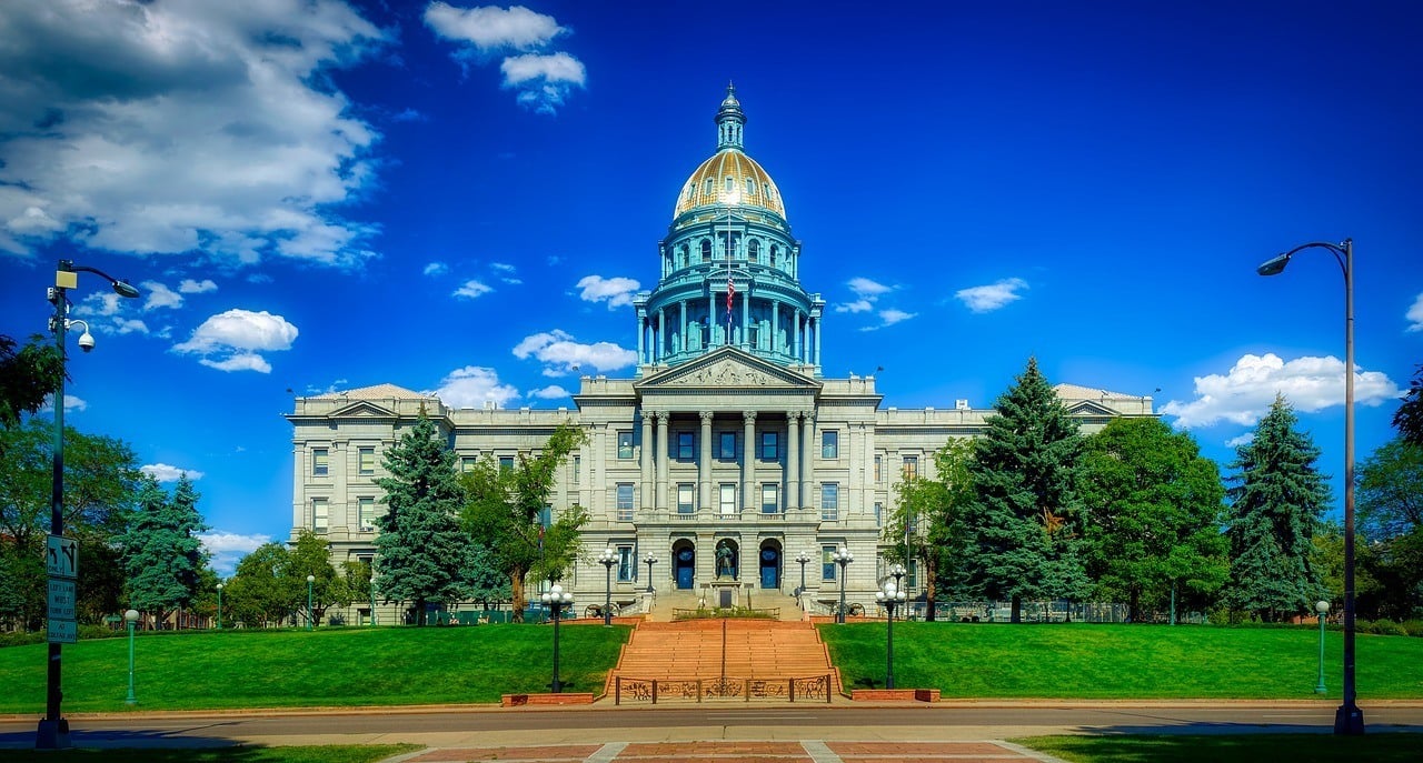
[[[988,406],[1036,355],[1222,465],[1279,389],[1339,477],[1339,269],[1254,269],[1355,239],[1366,456],[1423,362],[1420,34],[1409,1],[4,3],[0,332],[44,330],[60,257],[141,286],[73,293],[68,421],[201,475],[231,570],[290,529],[293,395],[630,375],[734,81],[828,375]]]

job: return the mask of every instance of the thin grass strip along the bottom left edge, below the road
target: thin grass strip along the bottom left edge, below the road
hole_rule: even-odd
[[[142,750],[6,750],[9,763],[373,763],[420,745],[332,745],[327,747],[203,747]]]

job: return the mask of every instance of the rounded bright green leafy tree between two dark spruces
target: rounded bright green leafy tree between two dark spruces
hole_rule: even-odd
[[[1215,462],[1191,435],[1157,418],[1114,419],[1086,439],[1080,482],[1087,509],[1087,570],[1110,598],[1171,607],[1178,594],[1197,605],[1229,571],[1221,534],[1225,487]]]

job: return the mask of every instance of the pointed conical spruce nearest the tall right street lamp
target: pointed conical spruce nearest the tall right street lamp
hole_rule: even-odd
[[[1231,469],[1231,585],[1225,602],[1265,621],[1305,614],[1323,594],[1312,561],[1313,534],[1329,503],[1315,467],[1319,449],[1296,429],[1295,411],[1276,395],[1255,438]]]

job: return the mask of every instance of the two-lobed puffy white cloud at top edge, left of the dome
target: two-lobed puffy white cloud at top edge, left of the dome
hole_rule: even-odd
[[[588,80],[578,58],[562,51],[536,53],[568,33],[552,16],[522,6],[457,9],[435,1],[425,7],[424,20],[437,37],[460,45],[454,57],[461,67],[517,53],[499,64],[504,88],[515,91],[519,104],[539,114],[556,114],[573,88],[585,87]]]

